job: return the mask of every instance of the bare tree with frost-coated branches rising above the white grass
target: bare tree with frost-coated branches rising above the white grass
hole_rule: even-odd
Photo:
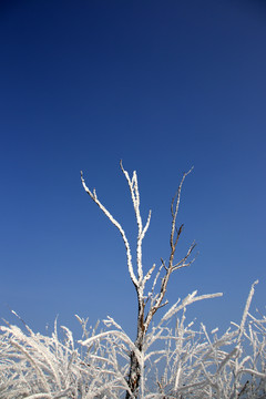
[[[151,222],[151,211],[149,213],[146,223],[143,225],[141,213],[140,213],[140,192],[137,185],[137,176],[136,172],[133,172],[132,178],[130,177],[129,173],[124,170],[122,162],[120,163],[121,170],[127,181],[131,198],[135,212],[135,218],[137,224],[137,242],[136,242],[136,265],[133,266],[132,255],[131,255],[131,247],[130,243],[126,238],[125,232],[121,224],[111,215],[111,213],[105,208],[105,206],[101,203],[98,198],[95,190],[91,191],[83,178],[83,173],[81,172],[81,182],[85,190],[85,192],[90,195],[92,201],[100,207],[100,209],[108,216],[108,218],[112,222],[112,224],[119,229],[120,234],[122,235],[125,250],[126,250],[126,258],[127,258],[127,268],[130,273],[130,278],[135,287],[136,296],[137,296],[137,324],[136,324],[136,339],[134,342],[134,348],[131,350],[130,356],[130,372],[127,377],[127,385],[129,389],[126,391],[126,399],[136,398],[139,396],[141,378],[143,375],[144,368],[144,356],[143,356],[143,344],[145,340],[145,336],[149,329],[151,321],[153,320],[154,315],[156,311],[167,304],[165,300],[165,294],[167,289],[167,285],[170,282],[171,275],[183,267],[190,266],[194,258],[191,258],[193,249],[195,248],[195,243],[188,247],[186,254],[182,259],[175,262],[175,252],[177,247],[178,239],[181,237],[183,225],[180,227],[176,226],[176,218],[180,208],[180,201],[181,201],[181,191],[185,177],[191,173],[192,170],[183,174],[181,180],[178,190],[175,196],[172,200],[171,204],[171,214],[172,214],[172,224],[171,224],[171,234],[170,234],[170,257],[168,262],[166,263],[163,258],[161,259],[161,265],[157,268],[157,272],[154,275],[155,264],[146,272],[143,270],[142,264],[142,243],[143,238],[147,232]],[[146,284],[153,276],[152,282],[152,289],[146,293]],[[221,294],[211,294],[205,296],[197,296],[190,298],[191,301],[204,299],[204,298],[212,298],[215,296],[221,296]],[[184,306],[183,306],[184,307]]]

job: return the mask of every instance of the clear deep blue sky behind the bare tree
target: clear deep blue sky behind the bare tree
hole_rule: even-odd
[[[134,336],[123,242],[84,193],[135,222],[119,162],[153,211],[144,267],[168,256],[170,204],[186,178],[171,303],[209,328],[265,306],[266,7],[260,1],[6,1],[0,6],[0,314],[35,330],[114,317]],[[177,257],[178,257],[177,254]]]

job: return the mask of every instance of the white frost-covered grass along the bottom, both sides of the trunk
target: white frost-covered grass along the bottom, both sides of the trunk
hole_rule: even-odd
[[[51,336],[6,323],[0,398],[124,398],[132,350],[142,365],[139,398],[265,398],[266,317],[249,314],[253,294],[254,285],[241,324],[232,323],[221,335],[187,323],[186,306],[178,313],[172,307],[151,326],[142,352],[112,318],[102,328],[86,328],[88,320],[76,316],[83,330],[78,341],[66,327],[59,335],[57,321]]]

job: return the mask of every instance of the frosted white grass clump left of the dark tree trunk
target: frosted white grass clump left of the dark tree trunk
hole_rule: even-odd
[[[25,331],[11,325],[0,327],[1,399],[89,399],[102,398],[102,392],[116,398],[120,389],[125,389],[115,336],[104,340],[98,334],[84,351],[74,346],[72,332],[61,328],[63,340],[59,339],[57,323],[51,337],[34,334],[28,326]],[[91,338],[94,335],[95,330]]]

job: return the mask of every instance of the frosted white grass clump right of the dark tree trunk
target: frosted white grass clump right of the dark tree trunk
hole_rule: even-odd
[[[152,339],[165,335],[165,349],[160,356],[153,354],[154,364],[164,362],[157,377],[162,398],[266,397],[266,318],[248,313],[253,294],[254,285],[241,325],[232,323],[221,337],[218,329],[208,334],[204,325],[200,330],[193,329],[193,323],[185,326],[185,311],[174,331],[160,326],[151,332]]]

